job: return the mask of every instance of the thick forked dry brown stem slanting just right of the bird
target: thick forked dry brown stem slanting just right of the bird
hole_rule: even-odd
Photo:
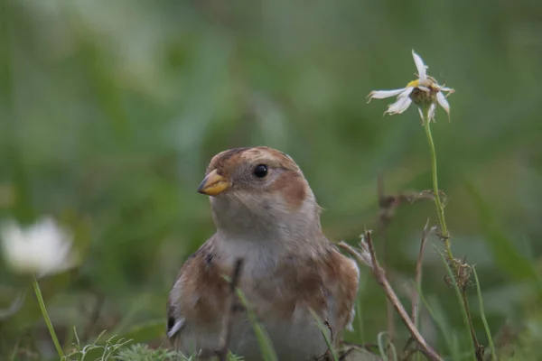
[[[382,287],[382,289],[386,293],[388,300],[393,304],[394,308],[397,310],[397,313],[399,314],[401,320],[405,324],[406,329],[408,329],[408,332],[410,333],[410,335],[414,339],[416,339],[416,342],[418,344],[420,351],[430,360],[444,361],[444,359],[441,356],[438,356],[438,354],[435,352],[433,347],[430,347],[427,344],[427,342],[425,341],[423,336],[420,334],[418,329],[416,329],[416,326],[414,325],[414,323],[412,323],[412,320],[406,313],[406,310],[401,304],[401,301],[399,301],[396,292],[394,292],[393,289],[391,288],[391,285],[389,284],[388,279],[386,278],[386,273],[384,273],[384,270],[380,268],[380,265],[378,264],[377,255],[375,254],[370,232],[366,232],[366,241],[367,241],[367,245],[369,245],[369,253],[370,253],[370,258],[371,258],[371,263],[372,263],[373,276],[375,277],[378,284]],[[353,249],[350,245],[347,245],[344,242],[341,242],[339,245],[341,246],[341,248],[348,251],[350,255],[353,255],[354,257],[356,257],[358,262],[360,262],[360,264],[365,264],[363,262],[363,258],[361,257],[361,255],[355,249]]]

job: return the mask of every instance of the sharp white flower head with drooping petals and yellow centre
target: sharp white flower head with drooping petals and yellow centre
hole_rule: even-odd
[[[397,97],[397,101],[388,106],[388,109],[384,114],[390,115],[403,113],[408,106],[414,102],[418,106],[418,111],[424,121],[424,114],[422,112],[423,106],[428,106],[428,118],[429,121],[435,121],[436,103],[444,108],[448,117],[450,117],[450,105],[446,100],[448,95],[453,93],[453,88],[445,88],[440,86],[435,78],[427,75],[428,67],[425,65],[424,60],[420,58],[416,52],[412,51],[412,57],[416,63],[417,77],[418,79],[410,81],[406,84],[405,88],[393,89],[393,90],[374,90],[369,93],[369,101],[372,99],[384,99],[386,97]],[[448,92],[444,96],[443,92]],[[368,101],[368,103],[369,103]]]

